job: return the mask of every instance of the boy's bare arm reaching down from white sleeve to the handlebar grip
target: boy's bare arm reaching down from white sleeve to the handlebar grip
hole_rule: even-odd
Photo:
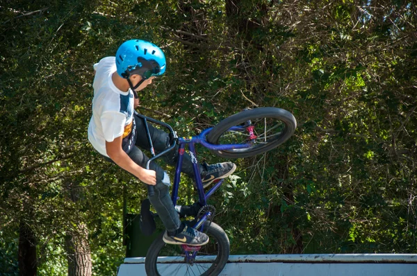
[[[140,181],[148,185],[156,184],[156,172],[152,170],[143,169],[141,166],[133,162],[131,157],[122,150],[122,136],[115,138],[113,141],[106,141],[106,152],[113,162],[115,162],[122,169],[129,171],[135,175]]]

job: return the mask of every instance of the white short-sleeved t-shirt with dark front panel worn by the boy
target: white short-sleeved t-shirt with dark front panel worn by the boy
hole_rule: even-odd
[[[94,64],[96,71],[92,88],[92,117],[88,126],[88,140],[94,148],[108,157],[106,141],[123,135],[123,149],[128,152],[136,139],[133,120],[133,93],[122,92],[111,78],[116,71],[115,57],[103,58]]]

